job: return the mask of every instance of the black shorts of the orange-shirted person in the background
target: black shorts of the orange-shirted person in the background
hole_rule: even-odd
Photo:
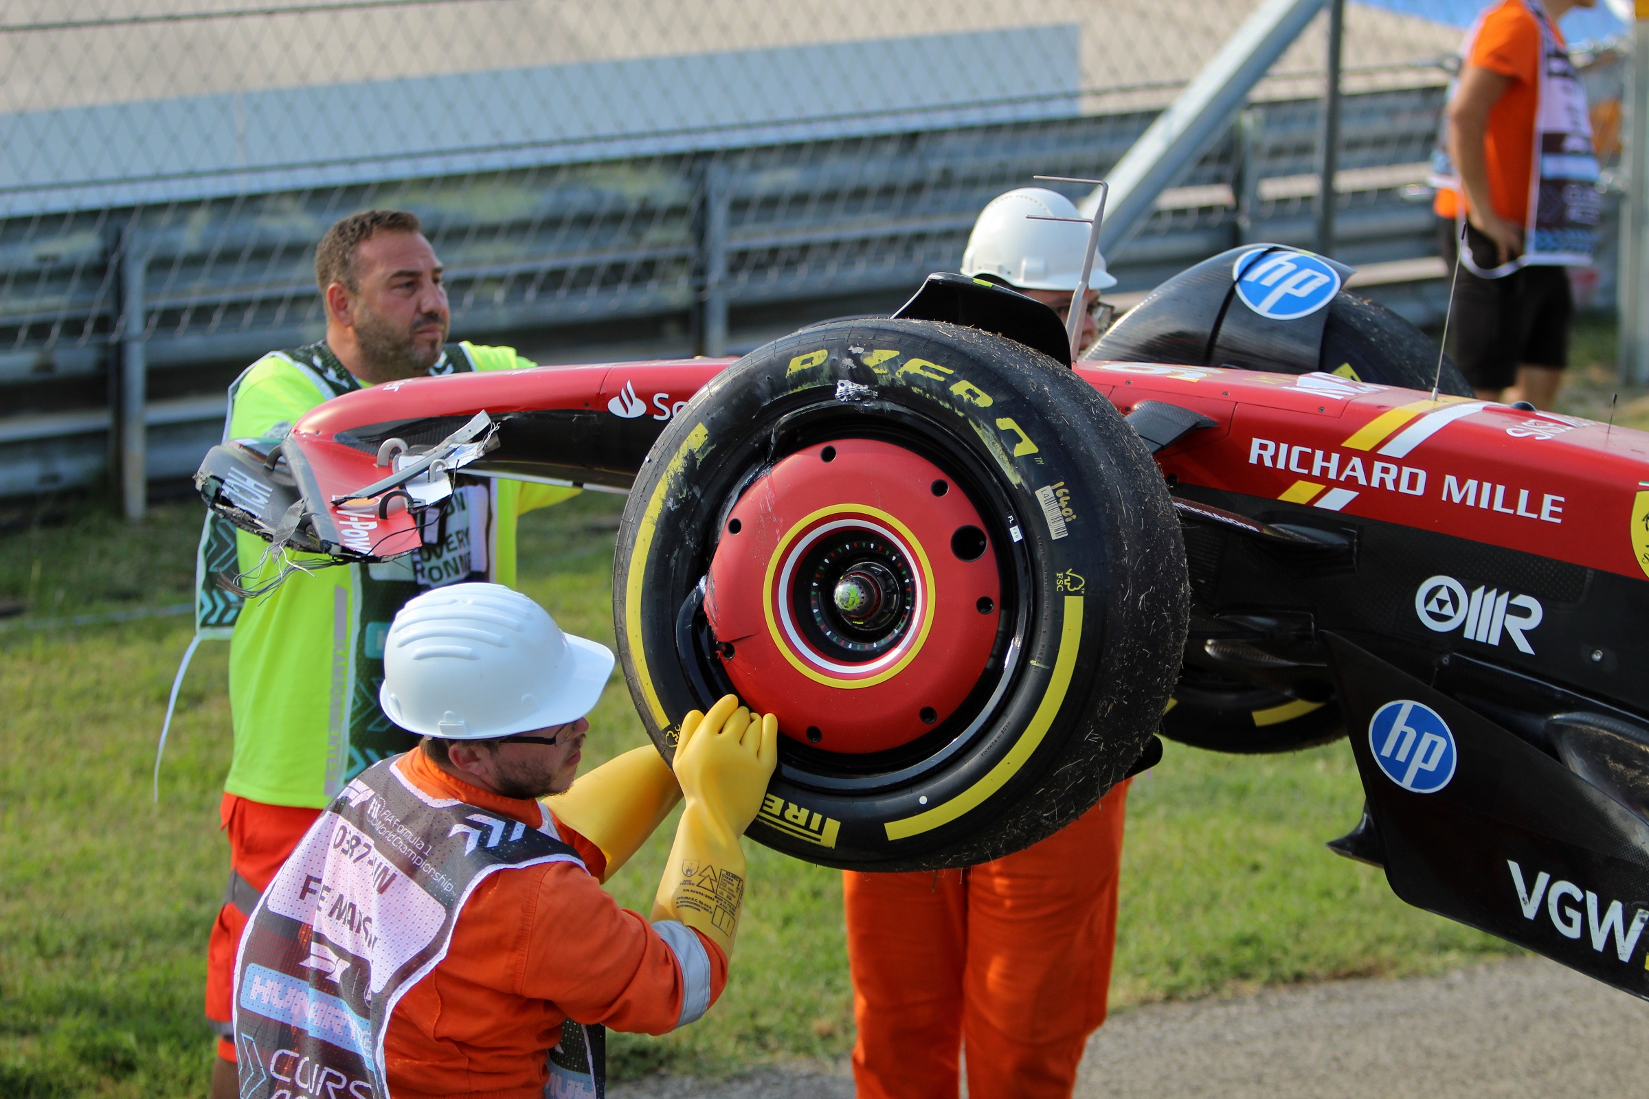
[[[1454,221],[1438,217],[1438,247],[1454,274]],[[1494,244],[1466,226],[1466,244],[1479,267],[1496,262]],[[1449,354],[1474,389],[1506,389],[1517,367],[1568,366],[1568,326],[1575,298],[1563,267],[1519,267],[1502,278],[1482,278],[1461,265],[1448,323]]]

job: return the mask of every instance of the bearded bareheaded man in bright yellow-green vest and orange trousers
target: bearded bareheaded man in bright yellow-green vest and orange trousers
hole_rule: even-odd
[[[229,387],[224,440],[277,435],[341,394],[404,377],[534,366],[513,348],[447,343],[442,265],[406,211],[338,221],[315,247],[327,338],[274,351]],[[419,592],[455,582],[513,585],[516,516],[576,489],[470,478],[455,484],[442,539],[373,565],[292,572],[239,598],[219,577],[256,592],[280,562],[265,545],[209,517],[201,535],[198,626],[229,636],[234,760],[223,827],[231,872],[208,946],[206,1018],[218,1033],[213,1099],[236,1094],[234,952],[247,913],[320,811],[373,763],[414,746],[378,707],[384,638]],[[302,560],[302,555],[295,555]]]

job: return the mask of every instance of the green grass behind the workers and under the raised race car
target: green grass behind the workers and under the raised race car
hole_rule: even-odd
[[[523,587],[574,633],[612,638],[615,498],[523,521]],[[218,797],[229,760],[226,646],[185,684],[150,804],[155,735],[185,618],[30,631],[20,621],[188,598],[196,506],[139,527],[91,514],[0,535],[0,1096],[204,1094],[204,942],[228,847]],[[641,745],[622,684],[592,715],[587,758]],[[1288,756],[1169,746],[1130,802],[1113,1003],[1222,995],[1352,974],[1435,972],[1509,952],[1403,906],[1379,872],[1322,842],[1362,797],[1344,745]],[[646,911],[669,842],[660,830],[612,882]],[[699,1023],[613,1036],[615,1074],[724,1073],[838,1058],[853,1043],[841,885],[831,870],[750,852],[732,980]]]

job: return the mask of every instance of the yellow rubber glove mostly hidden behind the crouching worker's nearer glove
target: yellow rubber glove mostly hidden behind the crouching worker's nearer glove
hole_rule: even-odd
[[[698,728],[702,713],[694,710],[681,720],[679,753]],[[663,756],[651,745],[608,760],[589,774],[580,774],[566,794],[546,797],[554,811],[579,835],[602,849],[610,880],[641,849],[669,811],[681,801],[681,786]]]

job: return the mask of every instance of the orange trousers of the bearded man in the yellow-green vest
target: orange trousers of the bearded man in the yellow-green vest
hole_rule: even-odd
[[[234,1041],[228,1038],[234,1018],[234,956],[241,949],[241,933],[257,895],[269,888],[275,872],[287,862],[292,850],[320,816],[320,809],[298,806],[269,806],[237,794],[224,794],[218,806],[223,830],[229,834],[229,870],[246,885],[239,893],[234,877],[229,878],[229,896],[218,910],[206,942],[206,1022],[218,1035],[218,1056],[234,1059]],[[251,893],[246,886],[251,886]],[[246,906],[236,905],[239,898]]]

